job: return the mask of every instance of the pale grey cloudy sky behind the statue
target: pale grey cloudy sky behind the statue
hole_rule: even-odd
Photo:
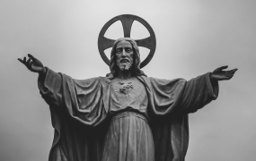
[[[75,79],[104,76],[97,38],[119,14],[136,14],[156,35],[155,78],[190,80],[229,65],[234,78],[219,83],[216,101],[190,114],[187,161],[252,161],[256,150],[256,1],[249,0],[1,0],[0,160],[45,161],[53,140],[49,106],[36,73],[17,61],[31,53],[55,72]],[[135,23],[132,38],[146,38]],[[107,31],[120,38],[120,23]],[[141,49],[142,57],[148,52]]]

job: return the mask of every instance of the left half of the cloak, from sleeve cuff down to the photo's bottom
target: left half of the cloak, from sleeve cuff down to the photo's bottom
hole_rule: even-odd
[[[75,80],[48,68],[38,85],[55,129],[49,161],[100,160],[109,93],[104,78]]]

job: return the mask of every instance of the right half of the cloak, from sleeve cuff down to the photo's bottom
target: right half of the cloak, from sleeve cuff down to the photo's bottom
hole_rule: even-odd
[[[210,72],[191,80],[138,77],[145,83],[151,117],[155,160],[184,161],[189,146],[188,114],[215,100],[217,81]]]

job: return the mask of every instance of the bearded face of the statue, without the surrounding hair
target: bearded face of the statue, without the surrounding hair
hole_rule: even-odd
[[[120,41],[116,47],[117,65],[120,71],[128,71],[133,64],[133,48],[130,42]]]

